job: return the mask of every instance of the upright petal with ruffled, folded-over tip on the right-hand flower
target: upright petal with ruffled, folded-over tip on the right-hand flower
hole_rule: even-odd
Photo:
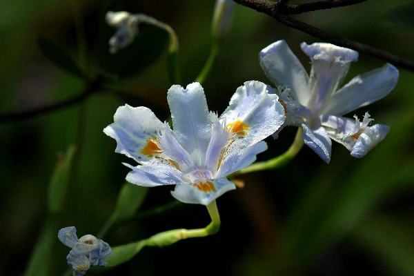
[[[319,113],[319,110],[342,83],[351,66],[351,61],[357,61],[358,52],[329,43],[308,45],[303,42],[300,46],[312,60],[309,81],[311,97],[306,106]]]

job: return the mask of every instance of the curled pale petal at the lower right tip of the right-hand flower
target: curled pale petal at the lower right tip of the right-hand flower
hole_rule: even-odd
[[[368,151],[377,146],[377,144],[386,137],[389,131],[389,126],[381,124],[366,128],[366,130],[359,135],[357,142],[351,150],[351,155],[356,158],[363,157]]]

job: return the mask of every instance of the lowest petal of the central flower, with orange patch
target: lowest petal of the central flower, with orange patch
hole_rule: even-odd
[[[179,184],[175,186],[171,195],[184,203],[208,205],[220,195],[235,188],[235,184],[223,177],[206,183]]]

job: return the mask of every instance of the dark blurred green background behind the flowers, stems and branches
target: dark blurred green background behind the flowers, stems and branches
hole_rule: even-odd
[[[104,23],[105,12],[140,12],[170,24],[179,37],[180,84],[186,86],[208,57],[214,4],[198,0],[0,2],[0,114],[69,99],[86,88],[79,77],[46,57],[39,37],[67,52],[90,78],[101,75],[122,91],[96,92],[83,103],[55,112],[0,121],[0,275],[23,275],[27,268],[48,220],[48,184],[57,152],[76,144],[57,226],[76,226],[79,237],[96,234],[110,217],[128,172],[121,161],[133,163],[115,154],[115,141],[103,134],[103,128],[124,103],[149,106],[159,119],[167,119],[168,37],[142,26],[132,46],[110,56],[108,39],[113,30]],[[297,18],[414,60],[413,11],[412,1],[378,0]],[[221,113],[244,81],[268,82],[257,54],[279,39],[286,39],[310,68],[299,43],[318,39],[255,10],[235,8],[233,28],[204,83],[210,110]],[[382,64],[360,55],[347,79]],[[414,72],[400,70],[391,95],[357,110],[359,116],[369,111],[376,123],[391,126],[386,139],[363,159],[353,159],[335,143],[331,164],[326,165],[305,146],[285,168],[244,175],[240,177],[246,182],[243,189],[218,199],[222,224],[217,235],[168,248],[144,248],[131,262],[90,270],[88,275],[414,275],[413,87]],[[295,128],[285,128],[279,139],[268,138],[269,150],[259,159],[284,152],[294,135]],[[170,189],[150,189],[140,210],[174,201]],[[204,227],[208,222],[204,206],[181,204],[116,228],[106,242],[115,246],[172,228]],[[52,259],[44,266],[48,275],[61,275],[67,269],[69,248],[57,241],[57,232],[47,240],[55,244]]]

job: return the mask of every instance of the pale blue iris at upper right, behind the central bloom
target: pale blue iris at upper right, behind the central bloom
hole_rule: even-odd
[[[397,68],[387,63],[341,87],[358,52],[328,43],[302,43],[301,48],[311,58],[310,75],[284,40],[259,53],[266,76],[284,85],[285,89],[279,86],[279,97],[286,107],[286,124],[302,127],[304,143],[326,163],[331,160],[331,139],[346,146],[353,157],[363,157],[384,139],[389,127],[368,126],[368,113],[362,123],[342,115],[388,95],[397,83]]]

